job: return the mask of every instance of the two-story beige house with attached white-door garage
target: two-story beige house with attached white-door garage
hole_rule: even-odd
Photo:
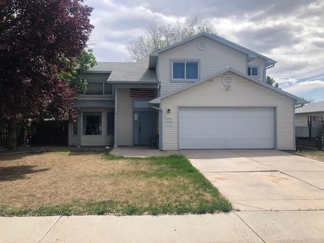
[[[100,62],[83,76],[70,145],[132,146],[158,135],[163,150],[295,148],[295,104],[266,84],[276,62],[200,33],[135,63]]]

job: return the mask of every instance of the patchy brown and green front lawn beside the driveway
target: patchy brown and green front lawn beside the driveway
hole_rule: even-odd
[[[0,215],[201,214],[229,201],[183,156],[56,151],[0,156]]]

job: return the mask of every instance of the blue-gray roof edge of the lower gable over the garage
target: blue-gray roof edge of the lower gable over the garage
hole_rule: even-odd
[[[244,77],[244,78],[246,78],[246,79],[249,79],[251,82],[253,82],[253,83],[255,83],[255,84],[258,84],[258,85],[263,86],[263,87],[265,87],[265,88],[267,88],[267,89],[269,89],[269,90],[272,90],[272,91],[274,91],[274,92],[276,92],[276,93],[279,93],[279,94],[281,94],[281,95],[284,95],[284,96],[286,96],[286,97],[289,97],[289,98],[295,100],[295,104],[306,104],[306,103],[307,103],[306,100],[303,100],[303,99],[301,99],[301,98],[299,98],[299,97],[297,97],[297,96],[295,96],[295,95],[292,95],[292,94],[290,94],[290,93],[287,93],[287,92],[285,92],[285,91],[283,91],[283,90],[280,90],[280,89],[274,88],[274,87],[271,86],[271,85],[268,85],[268,84],[266,84],[266,83],[263,83],[263,82],[261,82],[260,80],[258,80],[258,79],[256,79],[256,78],[253,78],[253,77],[251,77],[251,76],[249,76],[249,75],[247,75],[247,74],[245,74],[245,73],[242,73],[242,72],[240,72],[240,71],[237,71],[237,70],[235,70],[234,68],[231,68],[231,67],[228,67],[228,68],[226,68],[226,69],[224,69],[224,70],[222,70],[222,71],[216,72],[216,73],[214,73],[213,75],[210,75],[210,76],[208,76],[208,77],[202,78],[202,79],[198,80],[198,81],[195,82],[195,83],[189,84],[189,85],[187,85],[187,86],[185,86],[185,87],[183,87],[183,88],[180,88],[180,89],[178,89],[178,90],[175,90],[175,91],[173,91],[173,92],[170,92],[170,93],[168,93],[168,94],[166,94],[166,95],[163,95],[163,96],[157,97],[157,98],[155,98],[155,99],[149,101],[149,103],[152,103],[152,104],[159,104],[160,101],[161,101],[161,99],[164,99],[164,98],[166,98],[166,97],[169,97],[169,96],[171,96],[171,95],[174,95],[174,94],[176,94],[176,93],[179,93],[179,92],[181,92],[181,91],[183,91],[183,90],[189,89],[189,88],[191,88],[191,87],[193,87],[193,86],[196,86],[196,85],[198,85],[198,84],[201,84],[201,83],[203,83],[203,82],[205,82],[205,81],[207,81],[207,80],[209,80],[209,79],[211,79],[211,78],[213,78],[213,77],[219,76],[219,75],[224,74],[224,73],[226,73],[226,72],[231,72],[231,73],[236,74],[236,75],[238,75],[238,76]]]

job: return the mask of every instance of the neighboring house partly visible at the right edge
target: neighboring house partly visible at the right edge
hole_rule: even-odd
[[[296,136],[319,138],[323,135],[324,101],[296,108]]]

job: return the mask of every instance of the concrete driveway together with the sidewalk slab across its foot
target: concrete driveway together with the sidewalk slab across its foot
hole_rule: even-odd
[[[180,150],[264,242],[324,242],[324,163],[267,149]],[[300,242],[302,242],[300,241]]]

